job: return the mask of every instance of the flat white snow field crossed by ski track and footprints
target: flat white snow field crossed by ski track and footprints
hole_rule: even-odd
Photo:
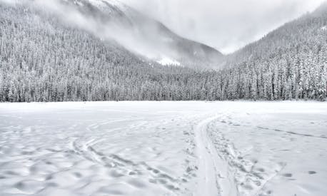
[[[1,103],[0,195],[327,195],[327,103]]]

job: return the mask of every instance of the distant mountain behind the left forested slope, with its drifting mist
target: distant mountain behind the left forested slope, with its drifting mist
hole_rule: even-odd
[[[68,25],[101,40],[114,41],[136,55],[159,63],[214,68],[222,57],[216,49],[178,36],[120,1],[36,0],[30,4],[54,14]]]

